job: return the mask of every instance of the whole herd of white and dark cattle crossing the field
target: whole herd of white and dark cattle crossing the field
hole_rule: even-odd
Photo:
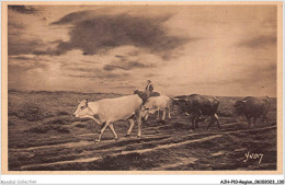
[[[262,123],[267,122],[267,113],[270,111],[270,97],[252,97],[248,96],[242,101],[232,102],[236,113],[238,115],[244,115],[248,119],[249,126],[255,125],[256,118],[261,118]],[[91,118],[99,125],[101,130],[96,142],[100,142],[101,137],[109,127],[113,132],[115,139],[118,136],[114,129],[113,124],[118,120],[128,120],[129,128],[126,136],[130,136],[135,122],[138,124],[138,138],[141,136],[141,119],[147,120],[149,114],[162,112],[162,120],[170,115],[170,105],[178,106],[181,114],[186,114],[192,123],[192,129],[198,128],[198,122],[202,120],[201,116],[209,117],[209,124],[217,123],[220,129],[219,119],[217,116],[217,109],[219,101],[215,96],[209,95],[181,95],[173,99],[169,99],[167,95],[155,94],[150,97],[142,91],[134,91],[133,95],[126,95],[115,99],[103,99],[96,102],[88,102],[83,100],[79,102],[79,105],[73,113],[77,118]]]

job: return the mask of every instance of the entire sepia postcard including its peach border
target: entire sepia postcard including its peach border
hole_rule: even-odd
[[[2,4],[2,171],[282,173],[281,7]]]

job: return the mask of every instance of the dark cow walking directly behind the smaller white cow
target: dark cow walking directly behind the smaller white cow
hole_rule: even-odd
[[[220,129],[218,116],[216,114],[219,101],[216,97],[200,94],[182,95],[174,97],[173,104],[178,105],[182,113],[190,115],[193,130],[198,128],[198,122],[202,115],[210,117],[207,129],[209,129],[215,122],[217,122],[218,128]]]

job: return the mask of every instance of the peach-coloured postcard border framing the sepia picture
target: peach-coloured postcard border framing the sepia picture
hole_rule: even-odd
[[[8,171],[8,5],[277,5],[277,170],[276,171]],[[283,174],[283,2],[282,1],[2,1],[2,174]]]

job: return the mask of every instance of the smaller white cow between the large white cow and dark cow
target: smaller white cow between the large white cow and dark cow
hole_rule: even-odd
[[[166,113],[168,109],[168,117],[171,118],[170,116],[170,100],[166,95],[161,96],[151,96],[148,99],[148,101],[145,103],[141,109],[142,117],[147,120],[148,119],[148,114],[153,114],[158,112],[158,117],[159,119],[159,112],[162,111],[162,120],[166,118]]]

